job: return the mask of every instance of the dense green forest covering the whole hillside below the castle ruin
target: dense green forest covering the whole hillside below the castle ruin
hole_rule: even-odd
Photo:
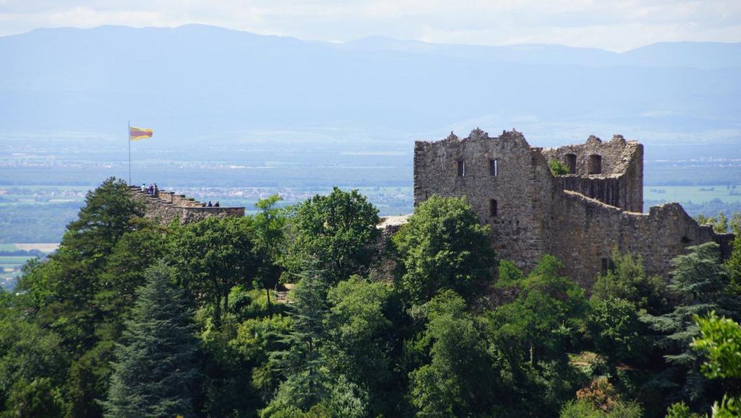
[[[2,417],[700,417],[741,405],[741,235],[590,289],[499,259],[465,198],[356,190],[162,225],[122,180],[0,293]],[[734,223],[734,226],[736,224]],[[693,415],[694,414],[694,415]],[[725,415],[723,415],[725,414]]]

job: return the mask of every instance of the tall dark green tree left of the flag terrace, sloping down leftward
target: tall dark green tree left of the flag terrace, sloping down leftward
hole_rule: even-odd
[[[19,279],[17,289],[36,304],[36,321],[59,333],[78,356],[96,344],[102,314],[93,298],[101,289],[99,277],[122,236],[139,229],[142,215],[142,203],[130,197],[126,183],[105,180],[87,193],[59,249]]]

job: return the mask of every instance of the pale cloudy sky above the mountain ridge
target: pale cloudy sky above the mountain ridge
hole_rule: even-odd
[[[388,36],[622,52],[655,42],[741,42],[741,0],[0,0],[0,36],[190,23],[330,42]]]

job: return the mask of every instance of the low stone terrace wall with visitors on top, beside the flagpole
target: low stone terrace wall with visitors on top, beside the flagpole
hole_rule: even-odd
[[[131,195],[144,203],[144,217],[156,219],[157,221],[168,224],[174,219],[179,219],[180,223],[190,223],[202,221],[212,216],[245,216],[243,207],[213,207],[205,206],[193,197],[178,195],[175,192],[160,190],[157,196],[152,196],[147,192],[142,192],[137,186],[129,186]]]

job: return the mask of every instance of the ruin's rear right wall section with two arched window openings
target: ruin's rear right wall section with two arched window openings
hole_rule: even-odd
[[[626,141],[622,135],[602,142],[591,136],[586,143],[546,148],[547,160],[556,160],[573,167],[574,173],[558,177],[563,190],[573,190],[593,197],[611,206],[643,212],[643,146],[637,141]],[[590,174],[591,159],[597,156],[601,172]]]

